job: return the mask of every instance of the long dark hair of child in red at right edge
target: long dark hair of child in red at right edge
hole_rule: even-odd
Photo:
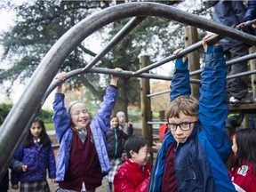
[[[235,137],[237,152],[234,168],[236,169],[244,163],[251,163],[254,167],[254,173],[256,173],[256,131],[249,128],[240,129],[236,132]]]

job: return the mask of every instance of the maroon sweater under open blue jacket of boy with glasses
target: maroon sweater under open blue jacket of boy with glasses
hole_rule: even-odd
[[[176,146],[177,143],[173,142],[166,153],[166,162],[164,165],[164,175],[162,180],[161,191],[178,191],[176,174],[174,170],[174,157]]]

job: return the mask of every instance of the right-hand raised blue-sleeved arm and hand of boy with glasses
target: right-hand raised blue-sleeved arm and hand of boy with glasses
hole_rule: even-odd
[[[228,116],[226,105],[226,61],[220,45],[207,45],[205,66],[201,75],[199,120],[203,130],[223,161],[227,160],[230,146],[225,135],[225,119]]]

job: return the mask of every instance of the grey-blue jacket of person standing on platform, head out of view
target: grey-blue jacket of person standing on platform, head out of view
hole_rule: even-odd
[[[244,14],[246,12],[246,7],[243,1],[226,1],[220,0],[214,5],[214,12],[212,14],[213,20],[221,23],[230,28],[236,28],[236,26],[244,22]],[[253,34],[252,28],[244,28],[244,32]],[[220,40],[220,43],[224,51],[230,49],[238,44],[243,44],[241,41],[236,39],[224,37]]]

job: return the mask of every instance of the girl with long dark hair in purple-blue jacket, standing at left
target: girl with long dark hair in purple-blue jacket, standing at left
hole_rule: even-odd
[[[15,159],[26,164],[28,170],[19,173],[12,171],[12,188],[18,189],[20,181],[20,192],[50,192],[46,175],[48,170],[51,182],[55,182],[56,164],[52,144],[46,133],[44,122],[36,118],[31,125],[28,137],[20,145]]]

